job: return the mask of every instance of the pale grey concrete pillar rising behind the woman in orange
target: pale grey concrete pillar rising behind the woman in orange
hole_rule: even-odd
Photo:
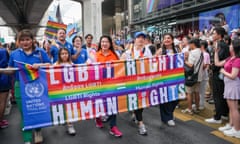
[[[102,36],[102,2],[103,0],[83,1],[83,35],[92,34],[94,43]]]

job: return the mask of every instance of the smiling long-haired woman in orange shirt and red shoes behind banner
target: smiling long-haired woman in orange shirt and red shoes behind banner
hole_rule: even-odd
[[[96,61],[97,62],[108,62],[108,61],[115,61],[118,60],[118,56],[114,51],[112,39],[109,36],[102,36],[100,38],[98,51],[96,53]],[[121,137],[122,133],[116,127],[116,115],[109,116],[108,120],[110,121],[111,130],[109,131],[110,134]],[[102,120],[101,118],[96,118],[96,127],[102,128]]]

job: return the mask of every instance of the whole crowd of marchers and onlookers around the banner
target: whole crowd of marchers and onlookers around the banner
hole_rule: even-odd
[[[176,40],[171,33],[163,35],[161,43],[152,43],[152,37],[144,32],[136,32],[134,40],[123,45],[117,43],[110,36],[103,35],[99,43],[93,44],[93,35],[87,34],[85,44],[83,38],[75,36],[72,44],[66,41],[66,30],[59,29],[57,40],[44,40],[42,46],[34,39],[30,30],[18,33],[16,49],[7,51],[0,48],[1,68],[16,68],[16,61],[31,64],[38,69],[47,65],[73,65],[92,62],[107,62],[120,59],[137,59],[161,55],[184,53],[186,95],[188,107],[181,112],[185,114],[201,113],[205,108],[205,97],[208,92],[215,104],[215,115],[206,119],[207,123],[221,124],[222,119],[229,118],[229,123],[219,127],[226,136],[240,138],[240,32],[229,37],[222,27],[216,27],[209,35],[203,33],[189,34]],[[41,48],[42,47],[42,48]],[[20,94],[19,77],[15,71],[0,71],[0,128],[8,126],[3,114],[6,99],[10,89],[14,89],[15,100],[22,114],[22,98]],[[195,77],[194,82],[188,82]],[[14,81],[14,84],[12,84]],[[14,87],[14,88],[12,88]],[[169,126],[175,126],[173,112],[178,101],[160,104],[161,121]],[[140,135],[147,135],[147,128],[143,119],[144,109],[132,112],[132,119],[138,125]],[[99,117],[95,119],[96,127],[104,127],[103,122],[110,125],[109,133],[115,137],[123,134],[117,127],[117,115]],[[66,124],[67,132],[75,135],[72,123]],[[41,129],[34,129],[34,143],[43,141]],[[22,131],[25,144],[33,141],[32,130]]]

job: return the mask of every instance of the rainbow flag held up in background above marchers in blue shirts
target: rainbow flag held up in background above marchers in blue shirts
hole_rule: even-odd
[[[48,21],[47,28],[45,30],[45,36],[50,39],[55,38],[57,35],[57,31],[60,28],[66,29],[67,25],[62,24],[62,23],[53,22],[53,21]]]

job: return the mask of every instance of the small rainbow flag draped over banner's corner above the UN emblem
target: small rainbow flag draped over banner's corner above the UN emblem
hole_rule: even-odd
[[[32,65],[15,61],[19,68],[19,74],[22,76],[25,83],[34,81],[39,77],[39,73],[37,69],[34,69]]]

